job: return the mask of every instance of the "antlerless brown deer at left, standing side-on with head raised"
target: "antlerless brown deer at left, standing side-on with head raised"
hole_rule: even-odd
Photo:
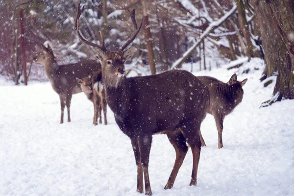
[[[35,63],[44,65],[45,73],[51,82],[51,86],[59,95],[61,105],[60,123],[63,123],[65,105],[68,111],[68,122],[71,122],[70,107],[72,95],[81,92],[75,77],[86,77],[95,70],[101,70],[100,63],[95,60],[87,60],[75,64],[58,65],[49,44],[47,48],[42,45],[41,52],[32,60]]]

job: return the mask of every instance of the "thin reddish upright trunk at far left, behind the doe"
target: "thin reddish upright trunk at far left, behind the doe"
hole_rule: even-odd
[[[21,49],[22,49],[22,66],[24,69],[24,83],[27,85],[27,76],[26,76],[26,58],[25,58],[25,27],[24,27],[24,9],[20,9],[20,25],[21,25]]]

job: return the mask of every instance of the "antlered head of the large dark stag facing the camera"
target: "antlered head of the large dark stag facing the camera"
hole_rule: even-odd
[[[109,51],[106,49],[104,45],[104,39],[102,36],[102,33],[100,32],[101,37],[101,45],[94,44],[92,42],[87,41],[79,32],[79,17],[81,13],[84,10],[84,5],[80,9],[80,2],[77,5],[77,14],[75,19],[75,29],[76,34],[80,38],[81,41],[86,43],[89,46],[94,47],[95,50],[95,57],[100,61],[102,65],[102,72],[103,72],[103,78],[108,78],[112,80],[112,83],[117,84],[121,78],[124,77],[124,62],[127,60],[130,60],[135,52],[137,51],[136,48],[131,47],[129,49],[126,49],[126,47],[131,44],[134,39],[136,38],[137,34],[139,33],[141,27],[142,27],[142,21],[139,28],[137,27],[136,19],[135,19],[135,10],[132,12],[128,11],[133,25],[135,27],[135,31],[131,34],[130,38],[126,41],[126,43],[121,47],[120,49],[116,51]]]

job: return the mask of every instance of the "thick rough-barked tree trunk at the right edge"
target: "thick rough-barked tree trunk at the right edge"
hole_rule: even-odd
[[[267,65],[266,75],[277,72],[277,81],[270,100],[294,99],[294,1],[251,0],[255,7],[257,24],[261,31],[262,44]]]

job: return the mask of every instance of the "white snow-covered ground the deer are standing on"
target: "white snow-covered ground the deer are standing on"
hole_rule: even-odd
[[[189,150],[174,187],[163,190],[175,153],[165,135],[153,137],[153,195],[294,195],[294,100],[259,108],[274,87],[273,83],[264,88],[259,82],[263,67],[262,61],[253,59],[238,70],[222,66],[195,73],[225,82],[235,72],[239,80],[248,78],[243,101],[224,120],[224,148],[217,148],[213,117],[207,115],[202,123],[207,147],[201,150],[196,187],[189,186]],[[249,73],[243,74],[247,69]],[[141,196],[136,193],[130,140],[109,108],[109,124],[94,126],[92,103],[84,94],[74,95],[72,122],[59,124],[59,98],[48,82],[1,84],[0,196]]]

